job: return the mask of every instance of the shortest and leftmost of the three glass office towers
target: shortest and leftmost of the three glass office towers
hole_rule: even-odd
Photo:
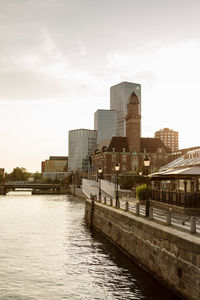
[[[87,172],[90,169],[89,156],[92,154],[96,143],[96,130],[70,130],[68,140],[68,169]]]

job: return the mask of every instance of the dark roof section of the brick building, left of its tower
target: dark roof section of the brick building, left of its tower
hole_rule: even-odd
[[[104,147],[106,147],[106,149]],[[123,148],[126,152],[129,152],[127,138],[122,136],[113,136],[97,145],[96,150],[104,150],[107,152],[123,152]]]

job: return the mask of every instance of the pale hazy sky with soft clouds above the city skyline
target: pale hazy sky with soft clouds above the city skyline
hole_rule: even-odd
[[[40,171],[94,129],[110,87],[141,84],[142,136],[200,146],[199,0],[0,0],[0,168]]]

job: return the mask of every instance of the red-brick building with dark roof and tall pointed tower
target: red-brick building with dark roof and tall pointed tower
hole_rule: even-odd
[[[111,179],[115,174],[115,164],[120,164],[120,173],[143,168],[145,155],[151,158],[151,171],[171,161],[171,150],[158,138],[141,138],[141,115],[139,101],[133,92],[128,99],[126,137],[112,137],[97,145],[91,155],[92,175],[103,168],[104,178]]]

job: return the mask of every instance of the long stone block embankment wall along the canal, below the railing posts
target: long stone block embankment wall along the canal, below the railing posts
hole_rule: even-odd
[[[200,299],[200,237],[96,201],[91,213],[88,199],[85,218],[176,294]]]

